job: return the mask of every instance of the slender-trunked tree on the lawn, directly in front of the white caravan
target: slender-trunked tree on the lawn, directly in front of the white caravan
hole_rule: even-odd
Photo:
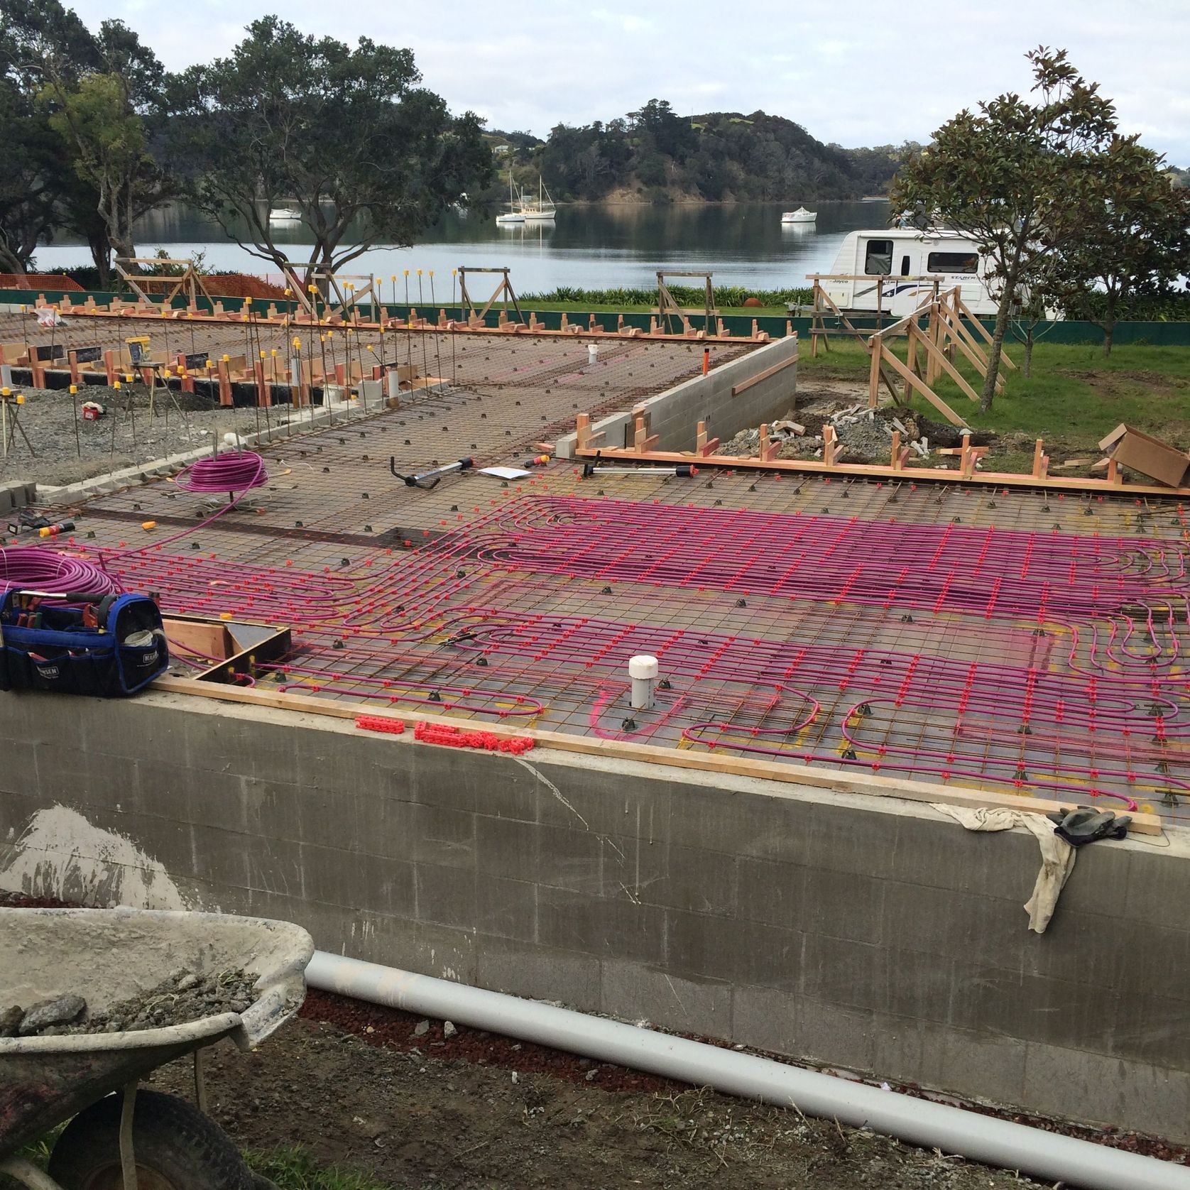
[[[892,209],[919,209],[977,239],[998,289],[981,409],[990,409],[1013,303],[1027,292],[1054,240],[1073,180],[1115,133],[1115,108],[1067,62],[1031,51],[1036,102],[1008,93],[947,120],[897,173]],[[1063,225],[1065,226],[1065,225]]]

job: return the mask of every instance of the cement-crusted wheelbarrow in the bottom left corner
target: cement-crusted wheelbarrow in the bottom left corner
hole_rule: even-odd
[[[0,909],[0,1006],[76,992],[94,1015],[180,970],[256,976],[256,998],[182,1025],[0,1038],[0,1175],[30,1190],[250,1190],[230,1138],[205,1114],[201,1056],[231,1038],[255,1050],[301,1007],[313,954],[299,926],[218,913]],[[2,1010],[2,1009],[0,1009]],[[152,1070],[194,1054],[198,1107],[137,1092]],[[49,1175],[15,1155],[65,1121]],[[2,1180],[2,1178],[0,1178]],[[268,1184],[268,1183],[264,1183]]]

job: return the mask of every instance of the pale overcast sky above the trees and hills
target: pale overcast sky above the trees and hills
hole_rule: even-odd
[[[65,0],[67,4],[70,0]],[[1031,83],[1026,50],[1063,46],[1121,126],[1190,165],[1190,0],[652,4],[446,0],[76,0],[119,17],[170,69],[226,54],[280,12],[306,32],[411,46],[426,86],[489,127],[545,136],[649,99],[679,112],[764,108],[846,146],[926,140],[945,119]]]

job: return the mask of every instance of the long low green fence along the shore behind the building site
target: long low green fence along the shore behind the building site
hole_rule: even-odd
[[[117,293],[104,293],[99,290],[86,290],[79,292],[74,290],[65,293],[58,289],[0,289],[0,308],[7,306],[27,306],[30,309],[33,307],[38,296],[44,296],[48,302],[58,302],[63,298],[69,298],[71,302],[82,305],[88,298],[94,298],[96,303],[100,306],[106,306],[112,301],[121,299],[120,294]],[[127,295],[123,295],[126,300]],[[238,314],[242,313],[246,307],[251,307],[259,313],[264,313],[269,306],[275,306],[280,312],[293,313],[296,309],[296,303],[286,301],[284,299],[261,299],[255,298],[249,301],[243,298],[219,298],[225,313]],[[211,303],[206,299],[200,298],[198,302],[199,309],[209,312]],[[182,296],[175,298],[173,307],[176,309],[186,308],[186,299]],[[361,311],[365,318],[372,317],[372,307],[365,302],[361,303]],[[405,303],[393,303],[384,302],[382,309],[389,318],[405,319],[408,317],[411,309],[416,309],[424,318],[430,318],[431,320],[437,319],[438,311],[445,309],[446,317],[452,319],[463,320],[465,312],[459,306],[451,306],[439,302],[437,306],[431,308],[430,306],[406,306]],[[530,313],[537,314],[537,321],[540,326],[550,331],[556,331],[562,326],[562,311],[545,309],[534,311],[532,302],[521,302],[521,312],[528,318]],[[608,313],[608,312],[588,312],[588,311],[566,311],[566,319],[571,326],[589,326],[591,319],[595,324],[603,331],[615,331],[622,318],[624,326],[639,327],[643,331],[647,331],[650,326],[650,320],[656,315],[650,314],[647,311],[627,311],[624,314]],[[772,338],[779,338],[785,334],[787,327],[791,327],[802,338],[807,337],[810,332],[810,319],[809,318],[781,318],[778,315],[760,315],[752,318],[749,314],[724,314],[721,315],[724,326],[735,336],[746,336],[751,333],[752,324],[756,322],[757,330],[768,332]],[[493,307],[488,312],[484,319],[486,325],[496,326],[500,319],[500,307]],[[991,320],[982,319],[984,326],[991,330]],[[703,319],[694,315],[690,319],[691,325],[695,330],[702,330]],[[864,318],[863,315],[852,318],[852,324],[857,330],[868,332],[875,331],[877,328],[875,318]],[[827,327],[835,328],[840,326],[838,319],[827,319]],[[885,320],[888,325],[888,320]],[[1054,343],[1054,344],[1101,344],[1103,342],[1103,331],[1096,326],[1094,322],[1082,322],[1082,321],[1060,321],[1060,322],[1041,322],[1034,330],[1034,338],[1039,343]],[[1114,342],[1116,346],[1126,346],[1127,344],[1145,344],[1147,346],[1158,347],[1188,347],[1190,346],[1190,322],[1117,322],[1115,327]]]

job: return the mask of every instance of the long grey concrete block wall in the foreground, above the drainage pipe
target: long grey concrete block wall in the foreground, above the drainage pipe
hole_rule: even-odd
[[[1039,937],[1035,840],[922,804],[169,695],[0,695],[0,888],[1190,1140],[1182,832],[1081,852]]]

